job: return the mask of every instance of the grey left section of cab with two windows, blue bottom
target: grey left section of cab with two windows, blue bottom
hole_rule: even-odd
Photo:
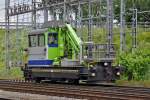
[[[28,64],[33,66],[40,65],[42,61],[46,60],[45,36],[44,34],[32,34],[28,37]]]

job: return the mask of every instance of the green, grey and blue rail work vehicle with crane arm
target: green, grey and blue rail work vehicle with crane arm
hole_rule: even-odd
[[[84,42],[70,24],[55,22],[32,30],[28,42],[26,80],[111,82],[119,73],[112,66],[114,45]]]

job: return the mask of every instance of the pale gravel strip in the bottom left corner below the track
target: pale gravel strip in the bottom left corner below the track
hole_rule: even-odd
[[[57,97],[57,96],[46,96],[46,95],[37,95],[37,94],[29,94],[29,93],[9,92],[9,91],[3,91],[3,90],[0,90],[0,99],[10,99],[10,100],[83,100],[83,99],[74,99],[74,98]]]

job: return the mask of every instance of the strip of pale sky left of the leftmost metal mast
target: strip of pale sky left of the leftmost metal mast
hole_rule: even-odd
[[[5,19],[5,0],[0,0],[0,21]]]

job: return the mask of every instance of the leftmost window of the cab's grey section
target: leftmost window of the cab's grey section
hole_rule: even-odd
[[[36,47],[38,45],[37,35],[29,35],[29,47]]]

